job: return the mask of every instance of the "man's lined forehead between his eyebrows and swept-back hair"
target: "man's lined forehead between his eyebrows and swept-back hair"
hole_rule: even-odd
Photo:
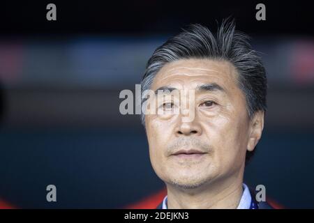
[[[232,91],[237,88],[237,77],[237,70],[228,61],[182,59],[163,66],[154,78],[151,89],[156,90],[161,86],[195,89],[198,84],[216,83],[226,91]]]

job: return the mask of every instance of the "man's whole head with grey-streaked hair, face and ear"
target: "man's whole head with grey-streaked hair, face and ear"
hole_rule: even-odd
[[[223,22],[216,37],[193,25],[167,40],[149,59],[141,84],[170,91],[156,105],[164,113],[142,115],[151,164],[165,183],[196,188],[243,175],[262,135],[267,79],[260,56],[233,22]],[[184,121],[182,105],[193,111],[192,120]]]

